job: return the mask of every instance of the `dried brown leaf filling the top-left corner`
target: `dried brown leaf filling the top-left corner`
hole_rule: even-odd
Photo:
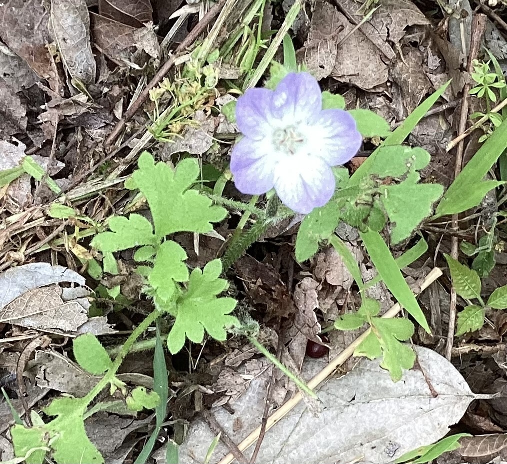
[[[40,0],[6,0],[0,4],[0,38],[43,79],[54,76],[46,48],[52,42],[48,19]]]

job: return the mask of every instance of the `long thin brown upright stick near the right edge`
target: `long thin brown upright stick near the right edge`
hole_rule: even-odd
[[[482,37],[486,31],[487,17],[483,14],[474,15],[472,20],[472,37],[470,38],[470,52],[466,62],[466,71],[469,73],[472,71],[472,63],[481,47]],[[463,101],[461,104],[461,113],[458,125],[458,135],[463,134],[466,129],[466,121],[468,120],[468,92],[470,90],[470,84],[465,84],[463,88]],[[463,164],[463,140],[460,140],[456,147],[456,162],[454,164],[454,179],[456,179],[461,172]],[[454,230],[458,229],[458,215],[453,214],[451,227]],[[458,259],[458,238],[452,236],[451,238],[451,257]],[[456,304],[457,295],[454,285],[451,286],[451,303],[449,307],[449,324],[447,329],[447,341],[445,347],[445,357],[450,361],[452,356],[452,346],[454,344],[454,325],[456,324]]]

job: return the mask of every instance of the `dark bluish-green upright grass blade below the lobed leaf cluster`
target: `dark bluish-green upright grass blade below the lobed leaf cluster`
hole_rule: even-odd
[[[155,446],[157,437],[160,433],[160,428],[164,423],[165,416],[167,415],[167,400],[169,397],[169,381],[167,377],[167,366],[165,363],[164,347],[162,337],[160,335],[160,325],[157,321],[157,338],[155,342],[155,353],[153,355],[153,389],[160,397],[160,404],[155,408],[156,425],[152,435],[142,447],[139,456],[134,461],[134,464],[143,464],[147,462],[150,453]],[[169,461],[168,461],[169,462]],[[172,463],[171,463],[172,464]],[[177,463],[176,463],[177,464]]]

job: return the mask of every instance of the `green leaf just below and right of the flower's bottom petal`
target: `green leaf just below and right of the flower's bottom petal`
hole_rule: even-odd
[[[339,222],[340,207],[333,200],[307,214],[296,237],[297,261],[310,259],[318,251],[319,243],[333,235]]]

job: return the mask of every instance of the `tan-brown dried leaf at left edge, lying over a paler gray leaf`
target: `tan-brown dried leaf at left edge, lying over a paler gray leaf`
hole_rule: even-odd
[[[75,332],[88,320],[87,311],[77,301],[64,302],[61,296],[58,285],[28,290],[0,311],[0,322]]]

